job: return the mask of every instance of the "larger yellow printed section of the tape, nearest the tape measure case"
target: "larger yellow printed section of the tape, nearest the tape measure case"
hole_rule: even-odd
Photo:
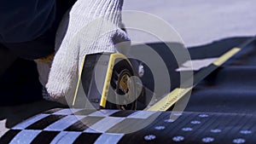
[[[185,89],[174,89],[170,94],[166,95],[160,101],[156,102],[152,107],[149,107],[147,111],[166,111],[184,95],[188,94],[189,90],[191,89],[192,87]]]

